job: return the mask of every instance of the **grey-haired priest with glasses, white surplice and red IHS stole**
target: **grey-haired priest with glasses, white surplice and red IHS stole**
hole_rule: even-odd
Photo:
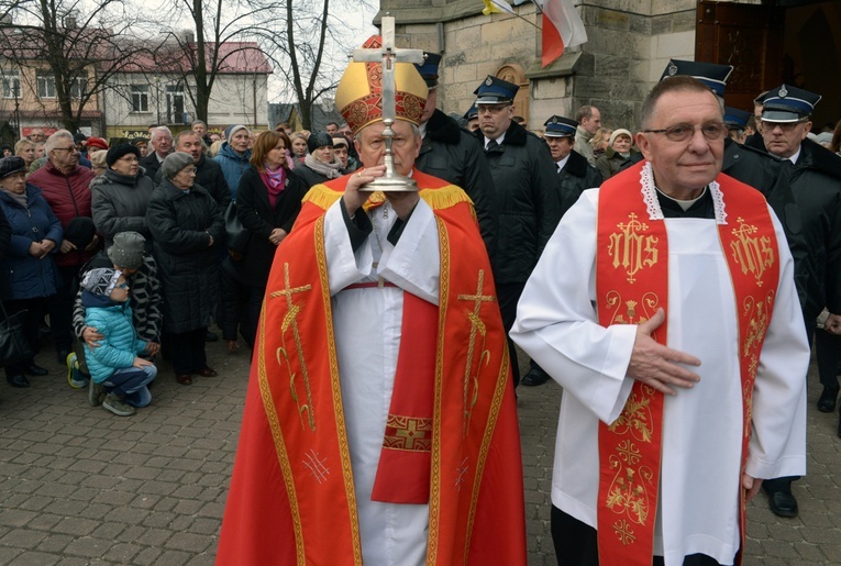
[[[720,173],[704,84],[642,107],[645,159],[585,191],[525,285],[512,337],[564,387],[558,564],[734,564],[762,478],[806,468],[809,348],[779,221]]]

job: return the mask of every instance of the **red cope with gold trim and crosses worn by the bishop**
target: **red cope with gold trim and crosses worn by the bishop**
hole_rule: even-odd
[[[441,248],[427,562],[524,565],[519,429],[489,262],[466,195],[420,171],[413,176],[435,213]],[[323,232],[324,211],[346,182],[343,177],[310,189],[278,246],[218,564],[362,564]],[[403,320],[406,329],[410,321]],[[416,334],[412,326],[402,336],[413,341]],[[402,410],[392,404],[395,411]]]

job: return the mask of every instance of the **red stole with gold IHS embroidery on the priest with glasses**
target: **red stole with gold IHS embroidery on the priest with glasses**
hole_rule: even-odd
[[[668,320],[667,233],[663,220],[650,218],[640,193],[644,166],[646,162],[615,176],[599,190],[596,292],[599,323],[604,326],[639,324],[659,308],[665,310]],[[723,174],[716,180],[727,213],[727,223],[718,224],[719,238],[730,269],[739,324],[743,473],[751,436],[753,382],[774,307],[779,262],[774,226],[762,195]],[[656,199],[655,195],[650,197]],[[653,337],[667,345],[667,336],[664,322]],[[651,565],[664,397],[634,381],[621,415],[611,425],[599,423],[601,564]],[[741,485],[741,476],[738,480]],[[743,489],[740,525],[744,546]]]

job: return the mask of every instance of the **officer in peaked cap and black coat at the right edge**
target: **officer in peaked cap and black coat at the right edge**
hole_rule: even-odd
[[[806,138],[812,109],[820,98],[788,85],[771,90],[763,101],[761,129],[768,153],[783,159],[800,211],[811,260],[804,307],[809,340],[825,308],[830,312],[825,330],[841,334],[841,158]],[[838,382],[825,384],[819,403],[831,402],[834,409],[838,392]],[[771,510],[779,517],[797,515],[797,500],[792,495],[794,479],[766,479],[762,484]]]

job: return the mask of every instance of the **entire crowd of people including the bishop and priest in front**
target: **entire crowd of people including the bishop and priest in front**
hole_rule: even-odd
[[[440,63],[395,68],[417,192],[366,192],[377,63],[324,131],[33,132],[0,158],[5,310],[35,351],[48,314],[70,385],[117,415],[159,355],[217,376],[213,322],[254,351],[222,563],[524,564],[514,388],[555,380],[558,563],[732,564],[761,488],[798,513],[812,342],[837,408],[841,122],[814,135],[820,96],[790,85],[724,107],[732,67],[672,60],[638,126],[586,104],[535,133],[498,77],[443,113]]]

